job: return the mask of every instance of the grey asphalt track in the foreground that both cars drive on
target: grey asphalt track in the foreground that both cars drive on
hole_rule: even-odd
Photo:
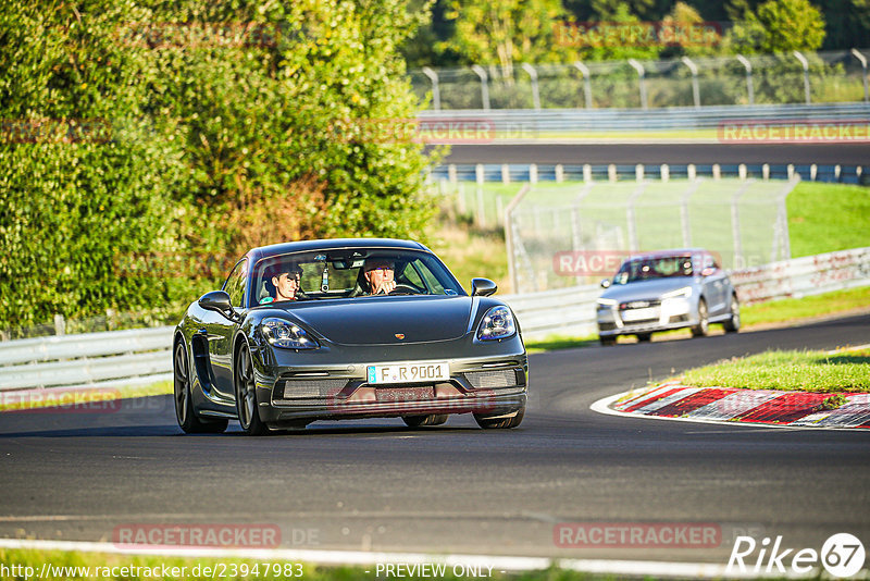
[[[313,424],[269,437],[185,436],[170,397],[100,413],[0,416],[0,536],[112,542],[139,523],[269,523],[282,546],[708,561],[737,534],[821,549],[870,540],[870,433],[620,418],[589,405],[769,347],[870,342],[870,316],[531,358],[511,431],[469,417]],[[558,546],[554,527],[707,523],[716,546]],[[557,539],[558,540],[558,539]]]

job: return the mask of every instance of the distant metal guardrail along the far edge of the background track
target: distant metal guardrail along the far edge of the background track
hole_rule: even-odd
[[[870,119],[870,103],[673,107],[668,109],[504,109],[421,111],[422,122],[486,124],[496,137],[534,139],[567,132],[643,132],[719,128],[736,122],[837,122]],[[865,139],[867,134],[862,134]]]

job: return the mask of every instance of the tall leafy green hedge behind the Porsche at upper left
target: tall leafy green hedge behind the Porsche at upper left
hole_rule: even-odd
[[[254,243],[422,235],[422,145],[373,131],[415,118],[419,16],[171,7],[0,7],[0,327],[177,309]]]

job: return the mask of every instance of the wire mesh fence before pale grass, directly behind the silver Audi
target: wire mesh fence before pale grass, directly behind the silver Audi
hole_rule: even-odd
[[[536,184],[506,211],[511,284],[535,293],[612,275],[632,252],[704,247],[726,269],[791,257],[796,181],[641,180]]]

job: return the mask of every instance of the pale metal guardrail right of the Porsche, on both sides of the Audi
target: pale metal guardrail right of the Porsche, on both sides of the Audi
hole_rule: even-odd
[[[734,271],[731,280],[742,304],[819,295],[870,285],[870,247],[773,262]],[[533,295],[504,295],[525,338],[592,335],[597,332],[598,285],[573,286]]]

